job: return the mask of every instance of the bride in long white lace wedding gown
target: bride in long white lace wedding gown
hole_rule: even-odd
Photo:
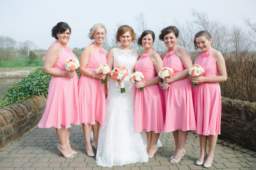
[[[130,26],[120,26],[117,30],[116,41],[121,45],[108,53],[107,64],[123,65],[129,73],[134,71],[139,51],[130,47],[135,40],[135,33]],[[96,163],[100,166],[122,166],[135,162],[147,162],[147,144],[140,133],[134,128],[135,86],[124,78],[126,92],[121,94],[120,86],[114,79],[109,81],[106,101],[106,116],[104,125],[100,126]]]

